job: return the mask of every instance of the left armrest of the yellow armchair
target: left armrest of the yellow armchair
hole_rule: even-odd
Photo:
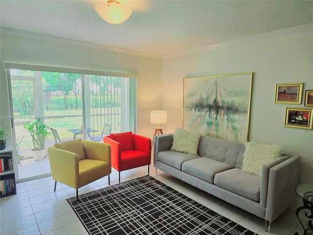
[[[48,147],[52,178],[72,188],[79,188],[79,157],[54,146]]]

